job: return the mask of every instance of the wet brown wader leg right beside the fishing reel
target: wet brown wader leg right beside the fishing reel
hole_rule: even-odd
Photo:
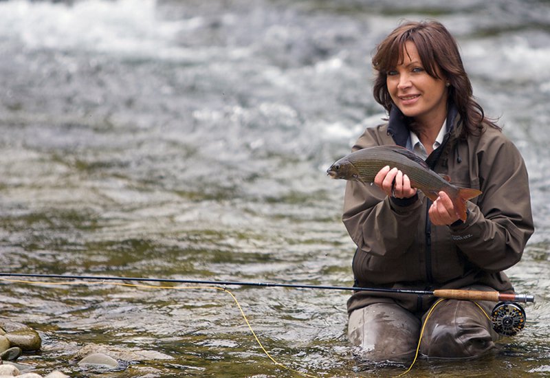
[[[493,302],[477,303],[491,315]],[[498,338],[492,322],[474,302],[443,300],[426,322],[420,353],[436,358],[477,357],[493,348]]]

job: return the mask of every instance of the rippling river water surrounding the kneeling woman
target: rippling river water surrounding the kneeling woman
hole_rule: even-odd
[[[375,44],[401,19],[434,17],[526,159],[536,233],[507,274],[536,303],[492,355],[419,361],[406,376],[550,375],[550,3],[387,3],[0,1],[1,271],[350,286],[344,182],[325,170],[384,115]],[[0,281],[0,320],[43,338],[19,359],[40,374],[406,370],[349,346],[345,291],[227,288],[279,365],[219,289],[41,281]],[[91,371],[75,364],[90,344],[170,358]]]

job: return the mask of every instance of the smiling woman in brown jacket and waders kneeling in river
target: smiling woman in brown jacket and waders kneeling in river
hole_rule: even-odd
[[[456,41],[436,21],[404,23],[377,46],[373,67],[374,97],[389,118],[366,129],[353,151],[404,146],[452,184],[482,194],[467,202],[461,221],[445,192],[432,202],[397,168],[382,168],[374,186],[348,181],[342,220],[358,246],[355,285],[513,292],[503,270],[518,263],[533,233],[527,170],[474,101]],[[489,351],[497,335],[485,313],[494,303],[478,304],[437,304],[420,353],[475,357]],[[433,305],[426,296],[355,292],[348,301],[349,338],[369,359],[410,359]]]

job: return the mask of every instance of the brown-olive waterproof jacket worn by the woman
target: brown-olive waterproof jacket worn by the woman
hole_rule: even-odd
[[[397,121],[396,121],[397,118]],[[387,197],[377,186],[348,181],[342,220],[357,245],[353,274],[357,287],[459,289],[487,285],[513,291],[503,270],[518,263],[533,234],[525,163],[503,133],[490,126],[467,140],[458,137],[459,116],[448,115],[443,144],[426,162],[451,177],[452,184],[483,193],[468,201],[467,219],[451,226],[432,225],[431,201]],[[369,146],[405,146],[408,129],[395,114],[390,122],[366,129],[353,151]],[[356,291],[348,311],[375,302],[397,302],[413,312],[430,307],[429,296],[375,295]]]

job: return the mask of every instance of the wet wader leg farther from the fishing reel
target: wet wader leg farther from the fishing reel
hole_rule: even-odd
[[[397,304],[370,304],[349,315],[350,342],[361,346],[364,357],[373,362],[410,361],[419,333],[420,320]]]

